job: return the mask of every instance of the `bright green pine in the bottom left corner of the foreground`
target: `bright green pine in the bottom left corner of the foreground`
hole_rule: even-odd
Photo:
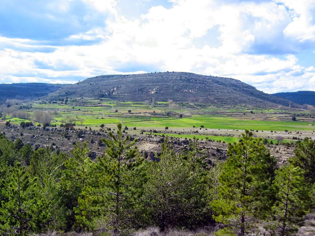
[[[40,231],[49,219],[49,208],[43,199],[35,199],[36,186],[25,171],[17,164],[13,168],[10,181],[3,188],[3,200],[0,208],[0,232],[21,234],[28,231]]]

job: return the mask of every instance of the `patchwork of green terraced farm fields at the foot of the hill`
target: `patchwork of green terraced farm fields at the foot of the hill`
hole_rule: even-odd
[[[115,128],[117,123],[129,127],[129,133],[137,136],[168,135],[176,138],[237,141],[245,129],[255,131],[257,137],[276,140],[281,135],[284,142],[293,136],[311,137],[315,133],[315,119],[302,109],[253,109],[244,106],[217,108],[198,104],[179,103],[171,106],[167,102],[119,102],[106,98],[69,99],[60,101],[34,101],[25,104],[29,120],[7,115],[7,121],[20,124],[32,121],[37,124],[34,112],[47,111],[52,114],[51,126],[74,123],[76,128],[98,130],[101,125]],[[296,121],[292,121],[292,117]],[[142,131],[142,132],[141,132]],[[298,135],[297,135],[298,133]],[[314,135],[315,138],[315,135]]]

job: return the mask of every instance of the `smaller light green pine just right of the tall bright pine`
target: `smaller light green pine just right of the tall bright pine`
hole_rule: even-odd
[[[279,236],[292,235],[303,223],[310,206],[310,191],[300,167],[286,164],[276,171],[274,187],[277,189],[273,218]]]

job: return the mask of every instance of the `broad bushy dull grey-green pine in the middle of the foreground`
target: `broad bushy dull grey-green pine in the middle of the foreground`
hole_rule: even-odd
[[[168,144],[162,144],[159,162],[150,163],[150,179],[146,186],[146,200],[153,222],[166,227],[192,228],[207,219],[205,211],[205,175],[183,155],[176,155]],[[209,216],[209,214],[208,214]]]

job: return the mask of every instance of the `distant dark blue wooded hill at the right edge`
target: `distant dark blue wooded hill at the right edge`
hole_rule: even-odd
[[[315,105],[315,92],[314,91],[298,91],[288,93],[275,93],[274,96],[285,98],[299,104]]]

